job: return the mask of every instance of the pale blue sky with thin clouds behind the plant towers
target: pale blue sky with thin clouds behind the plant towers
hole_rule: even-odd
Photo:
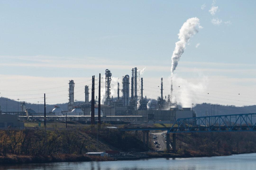
[[[48,104],[65,103],[74,80],[75,99],[83,101],[91,76],[98,81],[109,69],[115,97],[117,82],[131,77],[134,67],[145,70],[140,76],[147,98],[160,96],[161,77],[168,95],[179,30],[197,17],[202,28],[174,71],[175,99],[183,107],[254,105],[255,6],[256,1],[0,1],[0,96],[37,103],[46,93]]]

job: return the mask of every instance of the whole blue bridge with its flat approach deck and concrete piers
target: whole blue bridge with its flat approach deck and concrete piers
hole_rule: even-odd
[[[256,132],[256,113],[229,114],[216,116],[201,116],[180,118],[171,127],[137,127],[120,128],[122,131],[142,130],[144,145],[149,146],[150,130],[163,130],[166,133],[166,149],[170,150],[170,133],[173,134],[173,150],[176,150],[177,133],[206,133],[206,132]],[[145,140],[147,139],[147,143]]]

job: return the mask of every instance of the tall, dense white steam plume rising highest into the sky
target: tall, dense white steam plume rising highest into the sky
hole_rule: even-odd
[[[178,33],[180,41],[175,43],[176,46],[172,55],[172,75],[178,65],[181,55],[184,53],[184,49],[186,48],[186,44],[189,42],[189,39],[193,37],[193,35],[195,35],[201,28],[202,27],[200,26],[200,22],[197,17],[189,18],[180,28]]]

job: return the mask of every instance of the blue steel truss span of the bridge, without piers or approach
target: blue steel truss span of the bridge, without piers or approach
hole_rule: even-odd
[[[256,131],[256,113],[180,118],[168,132]]]

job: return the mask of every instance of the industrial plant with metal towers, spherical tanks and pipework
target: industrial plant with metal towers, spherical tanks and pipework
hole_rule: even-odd
[[[122,85],[117,83],[117,98],[113,98],[111,94],[112,73],[109,69],[105,70],[105,78],[100,76],[99,82],[95,82],[95,76],[92,76],[92,83],[85,84],[83,102],[74,100],[75,82],[69,80],[68,108],[55,106],[51,112],[46,113],[47,119],[81,121],[88,124],[98,121],[112,124],[152,124],[173,123],[179,118],[195,117],[194,111],[190,108],[178,108],[176,102],[172,103],[172,89],[171,95],[163,96],[163,78],[158,86],[161,87],[161,93],[156,100],[143,96],[143,77],[140,77],[138,70],[136,67],[132,68],[131,76],[128,74],[123,76]],[[105,94],[101,94],[100,91],[101,81],[105,81]],[[95,84],[99,84],[98,96],[95,95],[95,92],[98,92],[95,90]],[[89,94],[91,94],[91,101],[89,101]],[[104,103],[101,102],[101,95],[105,95]],[[37,113],[27,108],[24,101],[21,102],[20,107],[21,112],[13,114],[20,116],[22,120],[31,119],[31,117],[40,119],[44,116],[44,113]]]

